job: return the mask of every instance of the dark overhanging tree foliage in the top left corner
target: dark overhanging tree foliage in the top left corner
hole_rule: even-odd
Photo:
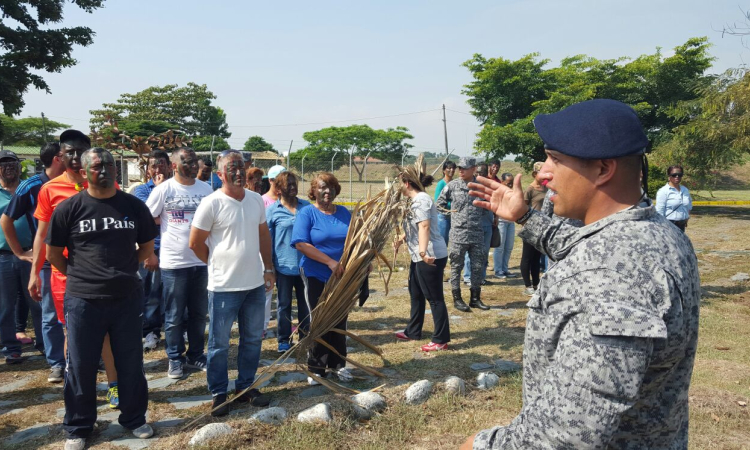
[[[101,8],[104,0],[72,3],[91,13]],[[5,114],[21,112],[29,86],[50,92],[49,85],[36,72],[60,72],[74,66],[77,61],[71,56],[73,46],[86,47],[93,42],[94,32],[88,27],[50,28],[51,24],[62,22],[64,4],[63,0],[0,0],[0,17],[18,24],[11,28],[0,21],[0,103]],[[36,14],[31,8],[36,9]],[[0,119],[0,139],[5,129],[3,121]]]

